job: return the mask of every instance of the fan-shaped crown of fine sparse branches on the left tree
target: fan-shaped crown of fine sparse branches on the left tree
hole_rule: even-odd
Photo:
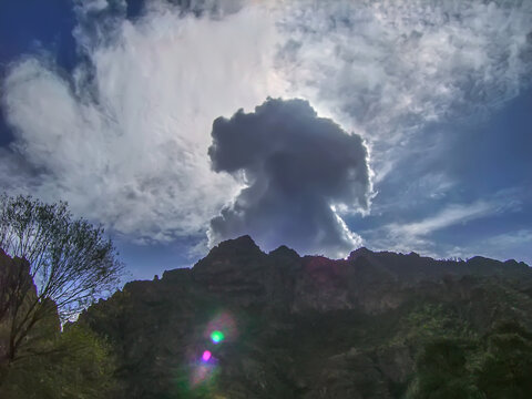
[[[38,299],[52,299],[64,321],[117,283],[123,266],[102,227],[73,219],[66,204],[0,196],[0,248],[30,264]]]

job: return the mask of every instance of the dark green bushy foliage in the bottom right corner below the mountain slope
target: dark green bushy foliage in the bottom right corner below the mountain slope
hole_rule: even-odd
[[[532,334],[503,323],[473,340],[438,338],[416,362],[407,398],[529,398],[532,392]]]

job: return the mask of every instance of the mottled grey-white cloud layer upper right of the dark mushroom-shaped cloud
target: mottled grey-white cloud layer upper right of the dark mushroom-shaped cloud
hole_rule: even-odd
[[[368,141],[377,181],[428,123],[482,113],[530,84],[530,1],[287,7],[278,63],[290,89]]]

